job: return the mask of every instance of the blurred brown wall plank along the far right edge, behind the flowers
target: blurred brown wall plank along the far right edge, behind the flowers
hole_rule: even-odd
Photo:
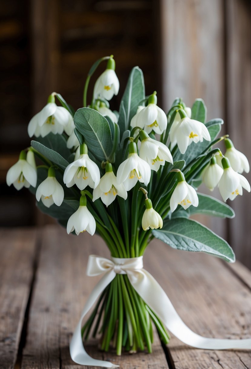
[[[227,130],[237,150],[251,159],[251,2],[229,0],[226,3]],[[244,173],[251,182],[251,173]],[[231,201],[236,220],[229,225],[229,236],[236,256],[251,268],[251,196],[243,191]]]

